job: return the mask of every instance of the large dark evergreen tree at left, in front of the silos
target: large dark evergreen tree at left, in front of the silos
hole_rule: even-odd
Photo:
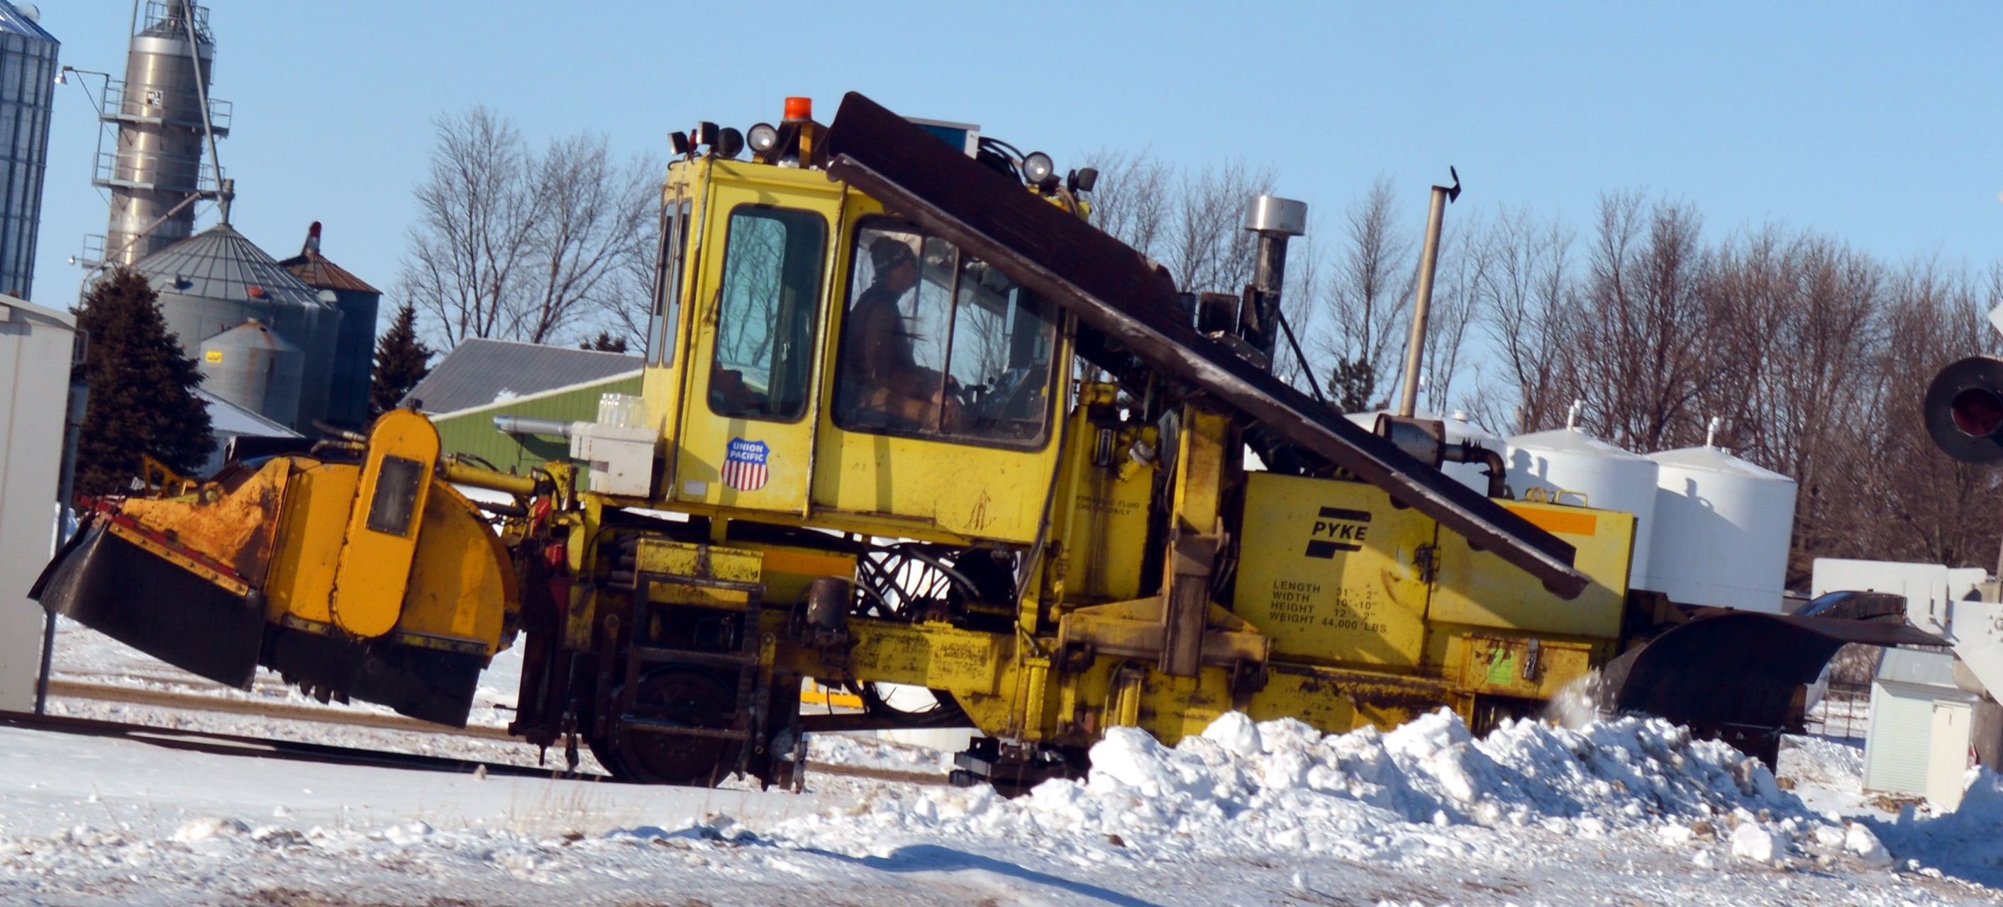
[[[102,276],[84,298],[76,328],[88,336],[84,380],[90,402],[76,444],[76,493],[124,491],[140,455],[192,475],[216,446],[208,406],[194,396],[202,374],[166,332],[160,296],[130,268]]]

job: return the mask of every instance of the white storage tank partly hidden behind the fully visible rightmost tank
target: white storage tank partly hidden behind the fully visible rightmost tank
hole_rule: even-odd
[[[1508,487],[1518,497],[1540,489],[1558,503],[1634,515],[1634,557],[1628,585],[1648,575],[1654,531],[1656,463],[1608,444],[1580,428],[1552,428],[1508,438]],[[1576,497],[1574,497],[1576,495]]]

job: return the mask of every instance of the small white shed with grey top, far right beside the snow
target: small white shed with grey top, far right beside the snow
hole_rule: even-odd
[[[1961,805],[1977,697],[1955,687],[1953,665],[1949,653],[1885,649],[1871,683],[1865,791],[1927,797],[1941,809]]]

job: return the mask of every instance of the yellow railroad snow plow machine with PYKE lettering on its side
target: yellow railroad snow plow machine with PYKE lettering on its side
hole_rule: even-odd
[[[1090,172],[859,94],[789,114],[675,136],[641,396],[497,418],[589,473],[469,469],[397,410],[98,503],[38,599],[443,723],[519,631],[511,731],[659,783],[797,779],[805,731],[973,727],[959,779],[1002,785],[1232,709],[1480,731],[1683,623],[1630,603],[1634,517],[1272,374],[1302,204],[1256,200],[1258,278],[1192,300],[1090,226]],[[863,709],[803,715],[807,681]]]

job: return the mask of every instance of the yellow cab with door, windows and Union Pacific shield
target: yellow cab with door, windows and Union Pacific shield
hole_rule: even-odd
[[[819,170],[669,170],[645,378],[659,507],[1036,541],[1064,314]]]

